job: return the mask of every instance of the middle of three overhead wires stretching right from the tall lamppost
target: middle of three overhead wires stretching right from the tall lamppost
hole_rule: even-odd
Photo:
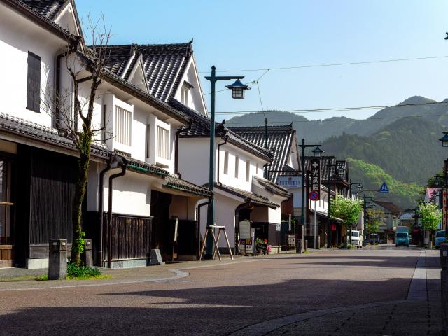
[[[428,102],[428,103],[415,103],[415,104],[398,104],[398,105],[376,105],[376,106],[350,106],[350,107],[330,107],[325,109],[292,109],[292,110],[279,110],[279,111],[263,111],[263,113],[276,114],[282,112],[289,113],[322,113],[322,112],[332,112],[332,111],[358,111],[358,110],[371,110],[371,109],[386,109],[388,107],[409,107],[409,106],[428,106],[428,105],[438,105],[438,104],[448,104],[448,101],[443,102]],[[221,111],[216,112],[216,114],[233,114],[241,115],[247,113],[258,113],[260,111]]]

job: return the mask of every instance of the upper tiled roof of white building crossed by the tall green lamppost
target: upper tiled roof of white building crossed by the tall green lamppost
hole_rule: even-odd
[[[200,113],[197,113],[195,110],[190,109],[188,106],[183,105],[181,102],[178,102],[176,99],[169,99],[168,103],[173,106],[176,110],[185,113],[188,117],[190,117],[191,123],[188,127],[183,127],[183,132],[181,132],[181,138],[188,137],[209,137],[210,134],[210,118],[203,116]],[[225,137],[228,136],[228,142],[240,148],[243,148],[245,151],[248,151],[258,157],[264,158],[265,160],[272,160],[272,154],[269,151],[266,151],[265,148],[257,146],[256,144],[251,143],[241,137],[236,132],[233,132],[232,129],[225,127],[223,124],[215,123],[215,135],[216,137]]]

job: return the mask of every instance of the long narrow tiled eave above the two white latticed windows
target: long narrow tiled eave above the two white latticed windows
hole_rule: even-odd
[[[91,52],[91,50],[89,51]],[[85,61],[85,63],[88,66],[91,66],[92,59],[91,56],[88,56],[80,51],[78,51],[78,55],[82,57]],[[167,104],[166,102],[163,102],[162,100],[158,99],[157,97],[154,97],[151,94],[148,94],[148,92],[145,92],[144,90],[141,90],[139,87],[129,83],[127,80],[121,78],[120,76],[116,75],[112,71],[109,71],[106,68],[102,69],[102,78],[104,80],[109,80],[115,83],[118,87],[120,87],[122,90],[129,92],[134,97],[137,97],[144,102],[150,104],[151,106],[155,106],[156,109],[161,109],[162,112],[167,113],[169,116],[172,116],[176,120],[180,120],[182,123],[189,123],[190,118],[186,116],[185,113],[174,109],[172,106]]]

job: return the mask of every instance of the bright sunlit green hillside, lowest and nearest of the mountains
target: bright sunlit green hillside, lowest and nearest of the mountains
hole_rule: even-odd
[[[414,208],[417,200],[421,198],[421,187],[416,183],[402,183],[377,165],[347,158],[350,167],[350,176],[353,181],[363,181],[365,190],[378,190],[386,182],[389,193],[372,193],[376,200],[393,202],[403,209]],[[361,194],[363,195],[363,194]],[[366,193],[365,195],[369,195]]]

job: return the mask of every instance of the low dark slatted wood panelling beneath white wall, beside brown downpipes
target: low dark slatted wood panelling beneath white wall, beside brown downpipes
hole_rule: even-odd
[[[112,260],[148,258],[151,253],[151,217],[112,214]],[[107,257],[108,214],[104,213],[104,258]]]

